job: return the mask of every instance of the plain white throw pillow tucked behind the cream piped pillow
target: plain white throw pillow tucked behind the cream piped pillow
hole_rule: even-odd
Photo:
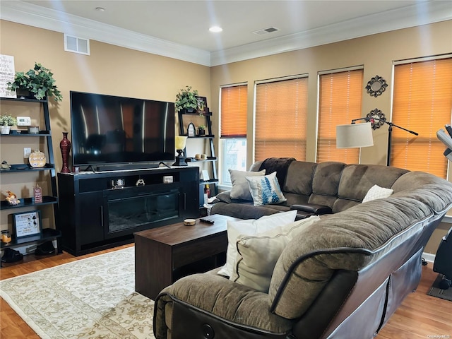
[[[226,250],[226,263],[219,271],[218,274],[232,276],[234,270],[235,261],[237,259],[237,238],[241,234],[251,235],[257,232],[264,232],[272,228],[287,225],[290,222],[295,221],[297,217],[297,210],[290,210],[289,212],[275,213],[272,215],[264,215],[257,220],[240,220],[240,221],[227,221],[227,250]]]

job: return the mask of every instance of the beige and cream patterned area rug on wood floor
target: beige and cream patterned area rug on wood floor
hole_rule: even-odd
[[[134,264],[129,247],[2,280],[0,295],[41,338],[154,338]]]

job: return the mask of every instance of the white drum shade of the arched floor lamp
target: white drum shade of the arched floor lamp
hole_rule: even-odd
[[[357,148],[374,145],[370,122],[336,126],[336,148]]]

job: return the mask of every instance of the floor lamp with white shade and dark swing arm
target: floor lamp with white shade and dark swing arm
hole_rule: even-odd
[[[355,124],[356,121],[366,120],[367,122],[364,124]],[[391,140],[392,140],[392,132],[393,126],[398,129],[403,129],[409,133],[414,134],[415,136],[419,135],[414,131],[410,131],[409,129],[404,129],[392,122],[386,121],[386,119],[378,119],[374,117],[364,117],[359,119],[352,119],[352,124],[350,125],[338,125],[336,126],[336,147],[337,148],[353,148],[353,147],[367,147],[374,145],[373,139],[371,144],[369,144],[369,138],[371,138],[371,124],[374,121],[378,121],[383,124],[387,124],[388,127],[388,150],[387,150],[387,160],[386,166],[389,166],[391,162]],[[369,126],[362,126],[369,125]],[[362,127],[361,127],[362,126]],[[369,136],[370,135],[370,136]],[[341,147],[339,147],[339,145]]]

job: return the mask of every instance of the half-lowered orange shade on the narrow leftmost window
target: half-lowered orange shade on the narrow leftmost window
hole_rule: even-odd
[[[221,89],[221,138],[246,138],[248,86]]]

